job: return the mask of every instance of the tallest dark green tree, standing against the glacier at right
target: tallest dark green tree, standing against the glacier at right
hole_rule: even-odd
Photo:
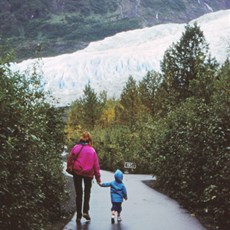
[[[190,82],[206,70],[216,68],[215,60],[208,55],[208,44],[199,26],[187,25],[179,42],[166,50],[161,71],[168,103],[175,105],[193,96]]]

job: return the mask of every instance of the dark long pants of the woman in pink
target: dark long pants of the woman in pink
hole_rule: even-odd
[[[92,187],[92,178],[74,174],[73,181],[74,181],[74,186],[75,186],[75,191],[76,191],[77,218],[81,218],[82,217],[82,197],[83,197],[82,181],[84,181],[83,213],[88,213],[90,192],[91,192],[91,187]]]

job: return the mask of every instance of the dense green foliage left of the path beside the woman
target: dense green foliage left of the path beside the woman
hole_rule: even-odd
[[[40,77],[0,66],[2,229],[41,229],[60,215],[62,111],[45,102]]]

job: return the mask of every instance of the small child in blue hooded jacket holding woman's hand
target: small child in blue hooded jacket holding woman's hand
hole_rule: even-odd
[[[117,212],[117,221],[121,222],[121,210],[123,199],[127,200],[127,190],[123,184],[123,173],[118,169],[114,173],[115,180],[107,183],[100,183],[101,187],[110,187],[111,202],[112,202],[112,217],[111,223],[115,223],[115,213]]]

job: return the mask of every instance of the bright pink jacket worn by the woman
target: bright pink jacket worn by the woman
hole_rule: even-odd
[[[71,154],[78,154],[81,148],[82,144],[75,145],[71,150]],[[80,154],[78,154],[77,159],[74,162],[74,171],[77,175],[90,178],[95,176],[97,182],[101,181],[98,156],[93,147],[88,144],[83,146]]]

